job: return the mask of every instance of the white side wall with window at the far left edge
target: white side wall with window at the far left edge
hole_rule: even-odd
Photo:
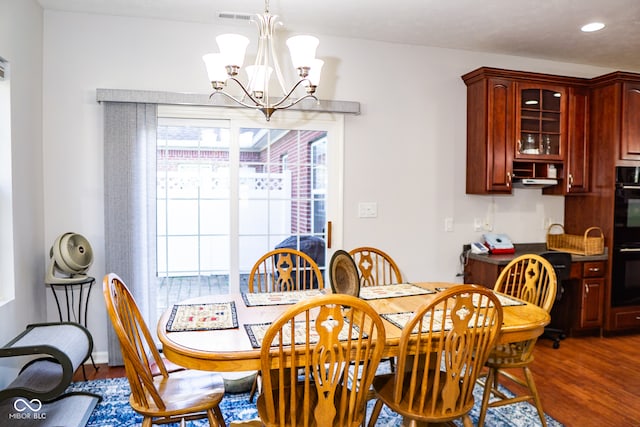
[[[35,0],[0,0],[0,56],[10,62],[13,240],[0,226],[0,258],[13,249],[9,279],[0,261],[3,286],[15,299],[0,306],[0,345],[45,316],[42,196],[42,10]],[[8,144],[8,141],[0,141]],[[2,159],[7,160],[6,158]],[[6,194],[3,194],[3,197]],[[0,217],[0,220],[3,218]],[[6,218],[5,218],[6,219]],[[11,283],[6,283],[11,280]],[[24,361],[22,361],[24,362]],[[0,359],[0,385],[15,376],[15,361]]]

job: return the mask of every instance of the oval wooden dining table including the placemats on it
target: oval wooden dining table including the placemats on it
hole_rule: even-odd
[[[383,318],[386,342],[382,357],[398,356],[401,318],[410,317],[438,292],[456,285],[460,284],[416,282],[361,288],[360,297]],[[260,345],[256,337],[261,331],[297,300],[331,293],[331,289],[294,292],[215,294],[174,304],[158,320],[163,354],[171,362],[190,369],[259,370]],[[499,342],[524,341],[543,333],[550,321],[546,310],[506,295],[498,296],[503,307]]]

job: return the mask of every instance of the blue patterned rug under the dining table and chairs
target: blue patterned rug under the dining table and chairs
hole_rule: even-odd
[[[96,406],[91,414],[87,427],[133,427],[142,423],[142,417],[133,412],[129,406],[130,389],[126,378],[76,382],[69,386],[68,391],[72,390],[88,391],[103,397],[102,402]],[[256,405],[255,403],[249,403],[248,397],[249,393],[227,393],[220,405],[227,425],[232,421],[251,420],[258,417]],[[477,424],[480,402],[482,401],[481,387],[476,386],[474,397],[476,405],[471,411],[471,419],[474,424]],[[368,411],[370,412],[372,408],[373,401],[369,402]],[[461,426],[462,422],[457,421],[456,424]],[[547,416],[547,424],[549,427],[562,427],[562,424],[549,416]],[[205,427],[208,424],[206,420],[199,420],[188,422],[187,425],[189,427]],[[398,414],[384,406],[376,425],[392,427],[400,426],[402,423]],[[489,409],[485,425],[490,427],[529,427],[539,426],[540,420],[535,407],[529,403],[522,402]],[[174,424],[174,426],[177,426],[177,424]]]

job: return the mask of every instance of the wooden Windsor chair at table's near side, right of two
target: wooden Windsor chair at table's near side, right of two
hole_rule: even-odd
[[[402,328],[396,372],[373,380],[369,426],[383,404],[410,420],[403,425],[472,426],[473,388],[501,327],[500,301],[482,286],[452,287],[417,308]]]

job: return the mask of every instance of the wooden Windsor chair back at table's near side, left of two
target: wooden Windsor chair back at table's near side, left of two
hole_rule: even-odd
[[[297,303],[262,340],[260,419],[269,427],[362,425],[384,347],[384,324],[366,301],[330,294]]]

